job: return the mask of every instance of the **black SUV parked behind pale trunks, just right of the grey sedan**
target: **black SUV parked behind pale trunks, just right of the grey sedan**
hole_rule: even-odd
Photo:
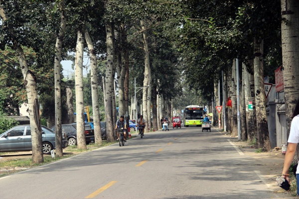
[[[77,144],[77,124],[62,124],[62,133],[66,133],[66,138],[68,141],[68,145],[76,145]],[[53,131],[55,130],[55,126],[51,128]],[[95,140],[94,129],[85,129],[85,140],[86,144],[93,142]]]

